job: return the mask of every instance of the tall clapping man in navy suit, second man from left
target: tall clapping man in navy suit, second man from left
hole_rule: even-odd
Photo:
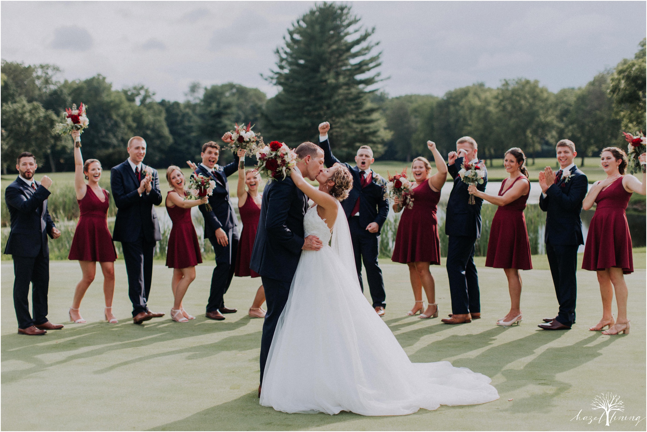
[[[153,277],[155,244],[162,239],[153,206],[162,203],[157,170],[144,165],[146,141],[128,140],[129,157],[110,170],[110,186],[117,206],[113,241],[120,241],[128,274],[128,296],[133,303],[133,323],[164,316],[148,309]]]

